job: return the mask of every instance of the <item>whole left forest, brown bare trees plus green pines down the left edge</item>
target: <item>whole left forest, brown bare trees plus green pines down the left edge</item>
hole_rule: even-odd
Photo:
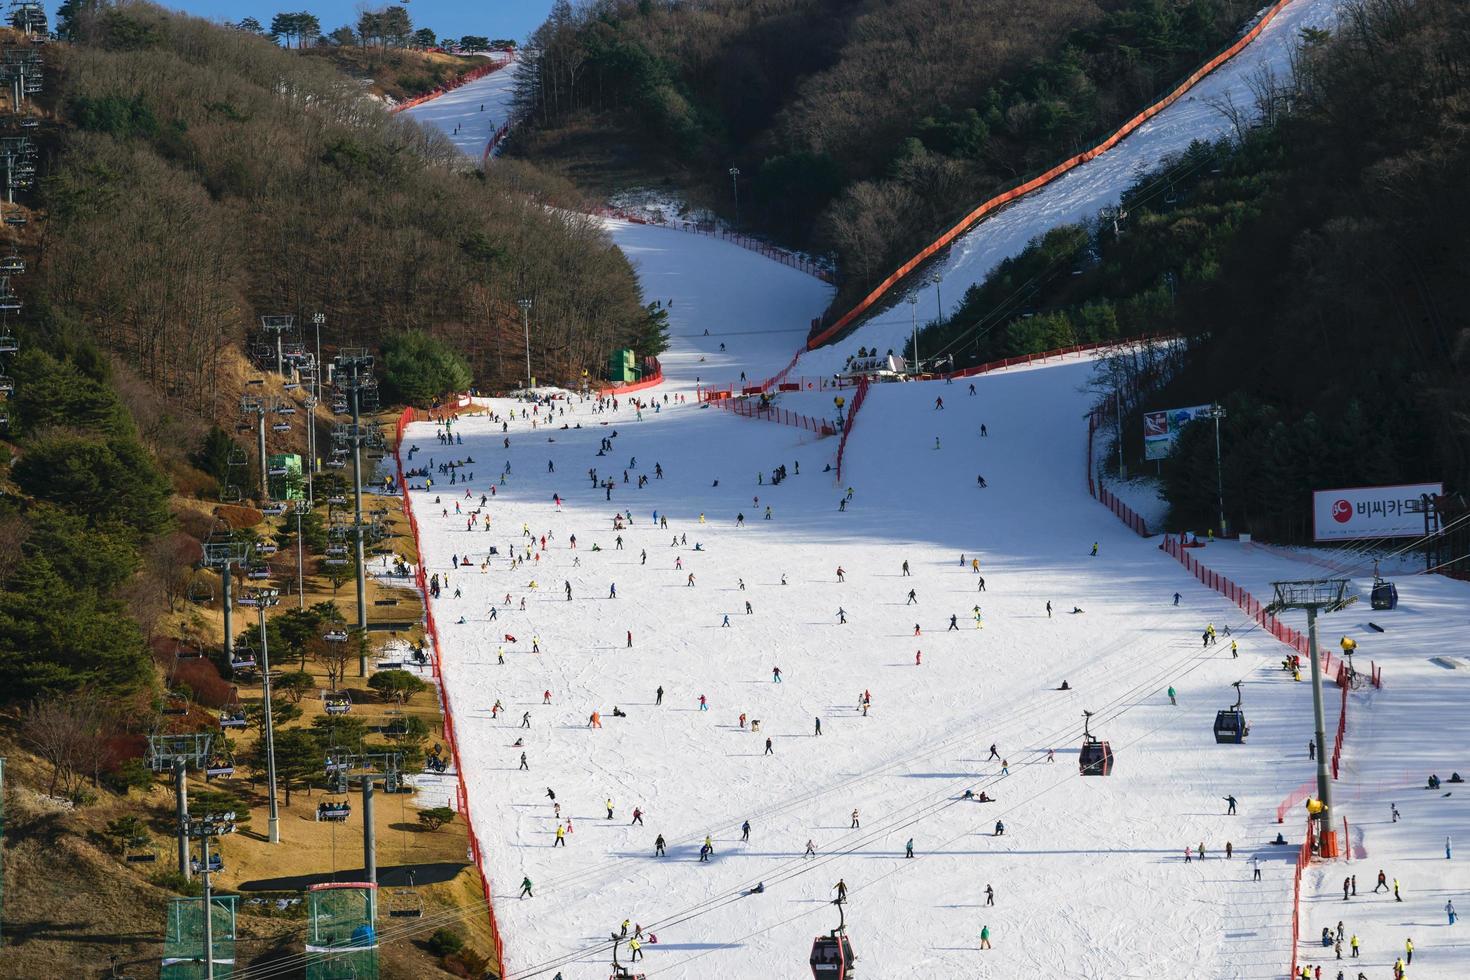
[[[441,137],[266,38],[140,3],[69,7],[72,44],[46,50],[6,364],[3,702],[153,689],[147,641],[209,529],[171,495],[223,482],[257,316],[326,313],[326,357],[366,347],[385,394],[420,403],[522,376],[522,297],[542,376],[663,342],[622,253],[556,207],[578,201],[569,187],[514,163],[466,172]]]

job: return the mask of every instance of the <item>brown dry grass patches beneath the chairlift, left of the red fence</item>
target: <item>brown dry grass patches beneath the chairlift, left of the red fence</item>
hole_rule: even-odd
[[[241,372],[241,376],[247,375]],[[387,420],[391,422],[392,417],[395,416],[385,413]],[[210,507],[206,501],[175,502],[185,510],[207,511]],[[262,532],[278,520],[268,519]],[[416,560],[407,520],[397,504],[390,505],[390,526],[395,535],[390,547],[406,560]],[[400,604],[387,610],[369,605],[369,621],[392,619],[415,623],[410,630],[398,635],[420,642],[422,629],[416,624],[422,620],[422,602],[417,594],[369,580],[369,604],[387,595],[398,598]],[[307,577],[307,605],[331,598],[334,598],[331,582],[325,576]],[[351,583],[344,585],[335,598],[351,619]],[[240,613],[241,616],[235,619],[237,630],[254,620],[251,610]],[[223,629],[218,597],[207,607],[190,605],[184,617],[191,638],[218,646]],[[370,633],[375,651],[381,649],[390,635]],[[370,661],[372,658],[369,669]],[[294,664],[282,666],[295,669]],[[315,664],[307,664],[307,669],[318,677],[318,686],[326,688],[325,673]],[[369,724],[385,724],[392,705],[379,702],[365,680],[354,674],[356,670],[350,667],[344,685],[353,693],[353,714],[363,717]],[[243,685],[240,696],[243,701],[259,701],[260,686]],[[312,720],[322,714],[322,702],[316,698],[303,699],[301,708],[303,717],[295,724],[310,726]],[[432,692],[417,695],[404,705],[403,713],[422,717],[434,733],[442,732],[442,717]],[[243,758],[250,752],[254,735],[235,730],[231,741],[237,757]],[[34,788],[46,786],[46,767],[10,741],[3,729],[0,729],[0,755],[9,757],[6,768],[9,820],[4,852],[7,945],[0,976],[101,976],[110,955],[119,958],[129,976],[157,976],[165,911],[172,893],[151,883],[148,877],[172,865],[173,842],[165,836],[172,821],[172,792],[162,782],[148,793],[134,792],[129,796],[101,790],[96,805],[66,810],[37,795]],[[193,777],[190,785],[196,790],[204,788],[198,777]],[[229,789],[250,802],[248,829],[223,842],[225,870],[216,876],[216,887],[232,890],[243,882],[362,868],[360,793],[351,796],[354,813],[345,824],[315,820],[316,804],[323,798],[320,790],[293,792],[290,807],[281,793],[281,843],[270,845],[265,839],[268,811],[263,782],[251,785],[245,770],[241,768],[237,777],[213,780],[210,788]],[[384,943],[381,976],[447,976],[437,958],[423,949],[423,940],[438,927],[460,932],[470,948],[488,954],[494,937],[482,905],[484,886],[479,873],[465,864],[469,833],[463,820],[456,818],[440,830],[423,832],[419,829],[417,811],[409,795],[390,796],[378,792],[375,804],[379,870],[400,864],[463,865],[454,879],[419,889],[425,902],[423,920],[384,923],[382,929],[392,930],[400,939]],[[154,829],[150,846],[159,855],[154,864],[128,864],[121,855],[110,854],[90,839],[101,832],[109,820],[129,814],[141,815]],[[241,965],[265,965],[301,952],[300,918],[257,914],[257,907],[244,904],[240,908]],[[416,932],[406,932],[415,929]]]

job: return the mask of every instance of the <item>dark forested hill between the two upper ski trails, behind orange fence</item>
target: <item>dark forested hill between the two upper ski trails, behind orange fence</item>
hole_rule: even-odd
[[[550,162],[588,131],[623,137],[726,213],[735,166],[742,222],[833,253],[841,306],[975,201],[1091,145],[1255,9],[563,1],[523,51],[519,151]]]

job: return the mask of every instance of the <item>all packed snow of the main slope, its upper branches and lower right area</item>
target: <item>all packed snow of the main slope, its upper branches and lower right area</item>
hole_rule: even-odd
[[[1298,0],[1192,101],[972,232],[950,259],[947,304],[1029,238],[1116,201],[1139,163],[1214,135],[1225,120],[1210,101],[1226,91],[1244,101],[1250,75],[1280,69],[1297,29],[1338,6]],[[1277,824],[1276,808],[1314,774],[1310,685],[1279,670],[1286,646],[1088,497],[1091,366],[983,376],[973,397],[969,382],[878,385],[836,485],[825,472],[835,438],[692,400],[710,379],[785,367],[829,288],[717,239],[609,229],[645,300],[670,311],[666,383],[632,397],[642,417],[628,395],[604,411],[573,400],[550,425],[541,408],[532,428],[504,420],[523,403],[492,400],[454,426],[462,444],[438,444],[432,423],[406,438],[417,445],[407,466],[432,460],[432,489],[420,476],[410,492],[423,561],[444,586],[442,671],[509,976],[606,974],[607,936],[625,918],[657,934],[637,964],[650,976],[807,976],[811,937],[836,926],[839,879],[861,977],[1283,976],[1304,815],[1298,807]],[[838,370],[858,344],[897,347],[906,332],[864,326],[794,373]],[[828,392],[781,398],[831,411]],[[603,439],[612,448],[598,455]],[[454,483],[438,470],[451,460],[465,461]],[[781,466],[788,476],[772,486]],[[610,498],[589,469],[613,480]],[[1273,579],[1330,574],[1310,552],[1216,542],[1195,554],[1263,599]],[[1408,937],[1416,980],[1461,977],[1470,964],[1444,911],[1467,886],[1442,846],[1457,827],[1467,836],[1466,796],[1416,789],[1429,771],[1470,768],[1470,664],[1429,660],[1460,657],[1470,588],[1399,586],[1404,607],[1372,614],[1386,633],[1366,626],[1364,605],[1330,626],[1385,666],[1385,689],[1351,696],[1336,790],[1354,860],[1304,879],[1299,952],[1329,980],[1332,949],[1310,940],[1338,918],[1363,940],[1341,967],[1349,980],[1360,968],[1388,977]],[[1207,623],[1232,633],[1205,646]],[[1211,723],[1235,680],[1251,735],[1217,745]],[[1330,742],[1336,689],[1326,699]],[[1108,777],[1078,773],[1083,710],[1116,752]],[[601,727],[588,727],[594,711]],[[964,799],[967,789],[997,802]],[[1277,833],[1286,846],[1270,843]],[[667,854],[656,858],[659,835]],[[706,835],[713,857],[701,862]],[[1377,867],[1399,879],[1404,902],[1369,895]],[[1344,904],[1341,879],[1354,873],[1360,893]],[[523,877],[534,898],[520,898]],[[980,951],[986,926],[994,949]]]

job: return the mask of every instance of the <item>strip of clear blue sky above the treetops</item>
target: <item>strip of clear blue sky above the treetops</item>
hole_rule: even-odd
[[[357,22],[357,9],[378,9],[388,3],[362,0],[160,0],[162,6],[185,10],[212,21],[240,21],[253,16],[270,26],[270,18],[282,10],[309,10],[322,22],[323,31],[344,24]],[[470,0],[409,0],[404,3],[413,26],[434,28],[440,37],[484,34],[485,37],[510,37],[523,41],[531,31],[541,26],[551,10],[551,0],[494,0],[472,3]],[[53,3],[53,16],[54,16]]]

